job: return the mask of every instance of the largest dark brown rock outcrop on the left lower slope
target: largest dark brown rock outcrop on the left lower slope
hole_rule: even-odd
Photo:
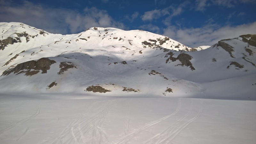
[[[42,74],[47,73],[47,70],[50,69],[50,66],[52,64],[56,63],[54,60],[50,60],[48,58],[41,58],[37,61],[30,60],[23,63],[18,64],[16,67],[11,68],[9,70],[5,70],[2,74],[2,76],[7,76],[10,73],[26,73],[26,76],[32,76],[39,72],[39,70],[42,70]]]

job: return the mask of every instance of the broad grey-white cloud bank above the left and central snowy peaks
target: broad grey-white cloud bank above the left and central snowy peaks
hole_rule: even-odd
[[[14,6],[12,1],[0,1],[0,21],[22,22],[50,33],[78,33],[91,27],[125,29],[105,10],[85,8],[82,13],[70,9],[43,7],[28,1]]]

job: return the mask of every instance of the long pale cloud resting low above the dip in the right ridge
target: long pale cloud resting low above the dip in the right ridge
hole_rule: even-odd
[[[202,28],[180,29],[170,26],[164,29],[164,36],[169,36],[182,44],[190,47],[213,45],[221,39],[235,38],[245,34],[256,34],[256,22],[238,26],[219,27],[206,25]]]

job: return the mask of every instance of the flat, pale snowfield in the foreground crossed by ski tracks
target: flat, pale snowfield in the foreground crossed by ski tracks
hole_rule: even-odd
[[[255,143],[256,101],[0,97],[0,143]]]

